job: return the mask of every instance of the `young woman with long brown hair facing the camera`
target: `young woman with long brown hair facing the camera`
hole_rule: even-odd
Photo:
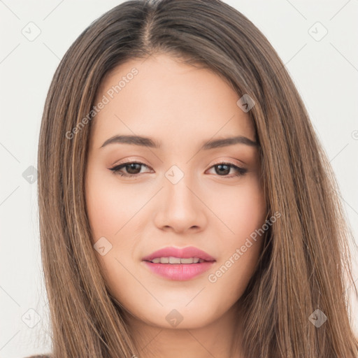
[[[38,195],[52,357],[357,357],[334,174],[227,4],[127,1],[85,29],[48,92]]]

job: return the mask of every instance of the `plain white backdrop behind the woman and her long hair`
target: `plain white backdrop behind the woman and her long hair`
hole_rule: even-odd
[[[50,351],[37,182],[30,184],[22,173],[36,167],[45,95],[59,60],[93,20],[121,2],[0,0],[1,358]],[[264,33],[285,62],[331,160],[357,241],[358,0],[226,2]],[[34,41],[22,34],[29,22],[41,30]],[[328,30],[320,41],[310,34],[322,34],[316,22]],[[352,302],[358,331],[357,301]],[[40,316],[32,329],[24,323],[35,317],[29,309]]]

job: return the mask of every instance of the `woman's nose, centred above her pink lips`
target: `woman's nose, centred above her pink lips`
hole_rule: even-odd
[[[203,230],[208,210],[203,194],[189,175],[184,175],[178,182],[168,178],[164,178],[164,188],[157,197],[155,225],[159,229],[182,234]]]

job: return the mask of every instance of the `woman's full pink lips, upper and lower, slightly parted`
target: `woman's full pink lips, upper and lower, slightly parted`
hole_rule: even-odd
[[[159,257],[178,257],[182,259],[198,257],[205,261],[197,264],[154,264],[150,262],[152,259]],[[150,268],[150,271],[164,278],[169,278],[170,280],[189,280],[208,271],[210,266],[215,262],[215,259],[203,250],[190,246],[188,248],[163,248],[143,257],[143,262]]]

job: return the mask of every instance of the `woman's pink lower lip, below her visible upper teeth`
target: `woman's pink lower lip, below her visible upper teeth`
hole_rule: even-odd
[[[200,264],[153,264],[152,262],[144,261],[150,270],[157,275],[169,280],[185,281],[208,271],[215,261],[205,261]]]

